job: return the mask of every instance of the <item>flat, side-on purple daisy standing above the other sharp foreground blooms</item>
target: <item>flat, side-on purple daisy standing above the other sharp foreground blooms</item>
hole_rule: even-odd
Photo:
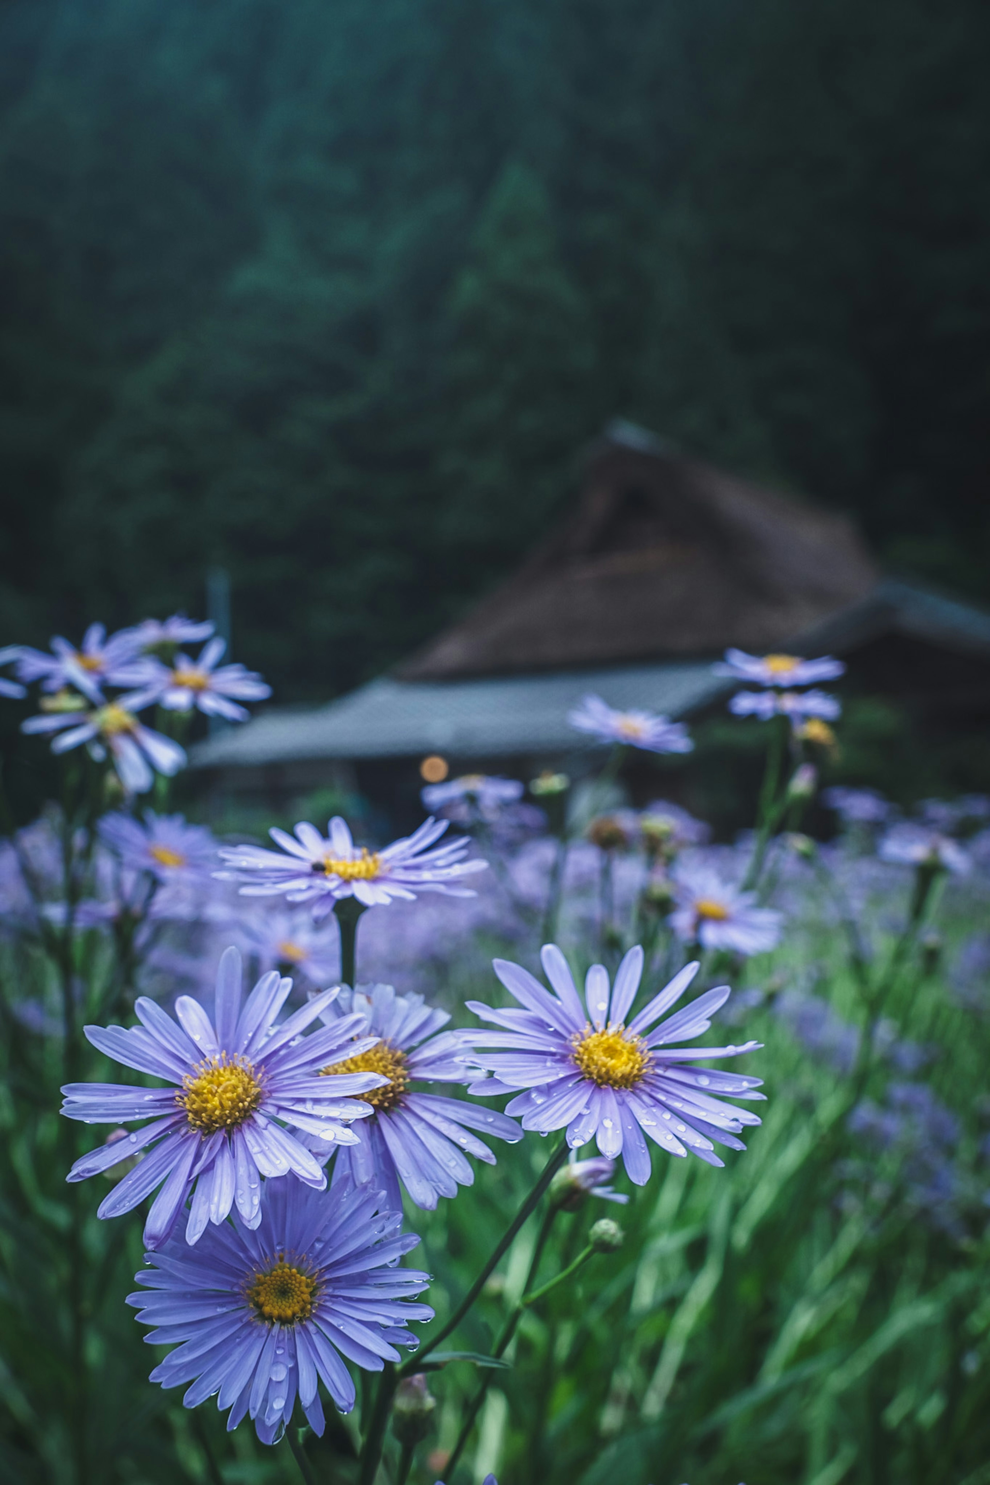
[[[468,887],[451,882],[473,872],[484,872],[487,861],[465,861],[471,842],[462,836],[448,845],[430,846],[447,830],[447,820],[426,820],[419,830],[393,841],[383,851],[358,848],[344,820],[334,815],[324,839],[306,821],[295,826],[295,839],[273,827],[269,835],[282,846],[264,851],[255,845],[221,849],[220,855],[232,867],[215,875],[233,882],[245,897],[285,894],[289,903],[312,903],[313,916],[331,912],[340,897],[355,897],[365,907],[387,904],[393,897],[413,900],[417,892],[442,892],[445,897],[473,897]]]

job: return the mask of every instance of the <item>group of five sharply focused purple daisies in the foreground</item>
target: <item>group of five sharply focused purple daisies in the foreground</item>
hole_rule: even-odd
[[[364,906],[370,890],[376,904],[469,891],[457,869],[473,863],[460,845],[433,848],[435,821],[378,857],[358,851],[343,821],[325,838],[297,826],[275,839],[282,852],[223,852],[240,892],[278,892],[319,915],[344,892]],[[738,1136],[758,1118],[726,1096],[760,1099],[758,1080],[708,1063],[757,1044],[684,1045],[708,1029],[726,986],[675,1010],[692,964],[634,1013],[641,949],[614,986],[592,965],[583,992],[557,946],[542,962],[549,989],[496,961],[517,1005],[471,1002],[482,1025],[451,1031],[447,1011],[387,985],[334,986],[285,1014],[292,980],[270,971],[245,998],[230,947],[212,1016],[189,995],[174,1016],[141,996],[137,1026],[86,1028],[94,1047],[144,1075],[70,1084],[64,1112],[114,1126],[68,1176],[117,1172],[98,1215],[150,1201],[142,1289],[129,1304],[148,1339],[172,1347],[154,1381],[186,1386],[190,1408],[215,1396],[229,1429],[249,1417],[269,1443],[297,1402],[319,1433],[319,1383],[349,1411],[353,1369],[399,1360],[417,1344],[410,1325],[432,1317],[414,1302],[427,1276],[398,1262],[419,1241],[402,1233],[402,1197],[433,1209],[471,1185],[472,1157],[494,1163],[479,1136],[566,1130],[573,1154],[594,1142],[597,1157],[568,1181],[607,1200],[616,1160],[634,1184],[649,1179],[652,1145],[709,1164],[721,1164],[717,1146],[744,1148]],[[450,1096],[457,1086],[466,1097]],[[500,1094],[505,1111],[478,1102]],[[141,1127],[128,1133],[132,1123]]]

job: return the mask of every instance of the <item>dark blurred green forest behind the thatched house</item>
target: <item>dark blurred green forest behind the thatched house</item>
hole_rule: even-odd
[[[614,414],[989,595],[984,0],[0,0],[0,642],[327,696]]]

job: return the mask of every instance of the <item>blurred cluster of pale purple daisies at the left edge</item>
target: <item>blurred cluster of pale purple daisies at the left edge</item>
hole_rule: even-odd
[[[191,644],[202,644],[196,658],[184,650]],[[37,683],[40,710],[22,731],[50,735],[53,753],[85,745],[94,760],[110,759],[123,792],[142,794],[154,774],[177,774],[186,751],[174,737],[141,722],[141,711],[160,707],[245,722],[249,713],[242,702],[270,696],[270,686],[254,671],[220,664],[226,647],[212,624],[181,613],[116,634],[91,624],[79,646],[55,636],[50,650],[30,644],[0,650],[0,665],[12,667],[16,677],[0,677],[0,695],[24,696]]]

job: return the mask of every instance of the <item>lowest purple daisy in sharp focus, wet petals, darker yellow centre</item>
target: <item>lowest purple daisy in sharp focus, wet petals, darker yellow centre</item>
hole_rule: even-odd
[[[429,1274],[398,1268],[416,1247],[401,1212],[381,1210],[381,1192],[341,1185],[335,1200],[292,1176],[267,1181],[254,1230],[224,1224],[194,1253],[181,1233],[135,1274],[128,1295],[151,1345],[174,1345],[151,1372],[162,1387],[191,1383],[183,1402],[217,1396],[227,1429],[251,1417],[263,1443],[282,1437],[298,1399],[315,1433],[324,1432],[318,1381],[340,1412],[355,1405],[344,1359],[370,1372],[414,1347],[411,1320],[432,1320],[410,1304]],[[187,1234],[189,1240],[189,1234]],[[150,1290],[150,1292],[148,1292]]]

